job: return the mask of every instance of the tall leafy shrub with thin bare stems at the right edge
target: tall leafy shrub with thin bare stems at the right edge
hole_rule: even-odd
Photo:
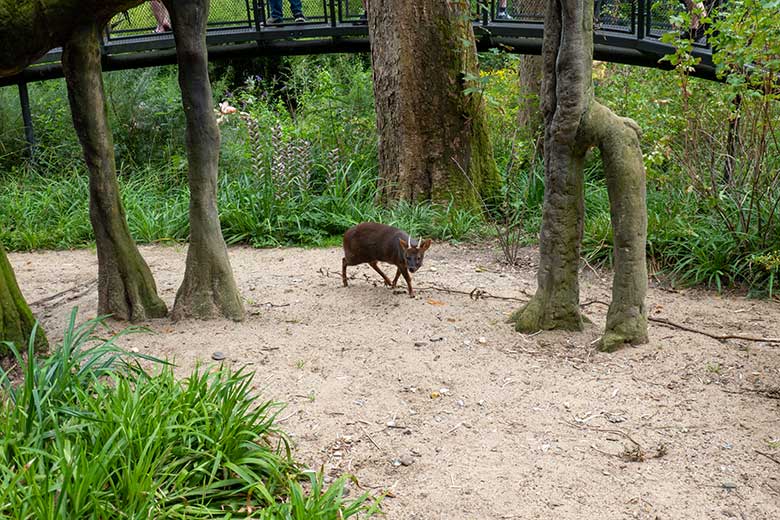
[[[673,17],[683,28],[692,27],[698,17],[715,50],[713,61],[725,84],[704,106],[696,102],[689,77],[696,62],[690,54],[693,31],[664,37],[675,46],[669,60],[677,73],[685,121],[673,155],[688,189],[697,193],[718,230],[711,237],[719,246],[712,254],[731,264],[710,275],[708,283],[718,288],[742,279],[774,292],[777,268],[751,259],[771,257],[780,239],[778,6],[776,0],[744,0],[714,13],[697,10]]]

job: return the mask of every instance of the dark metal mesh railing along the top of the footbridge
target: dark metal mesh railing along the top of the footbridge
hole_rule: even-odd
[[[704,3],[709,10],[718,1]],[[502,36],[538,37],[546,3],[547,0],[470,0],[474,23],[501,27]],[[107,47],[113,45],[118,52],[132,52],[170,46],[170,24],[166,26],[160,20],[159,11],[155,14],[155,4],[162,5],[151,0],[114,16],[106,31]],[[669,18],[685,8],[682,0],[595,0],[594,28],[607,35],[657,40],[675,30]],[[247,41],[267,41],[314,34],[307,33],[309,29],[314,29],[317,36],[327,36],[328,27],[338,26],[342,28],[334,36],[364,35],[365,29],[356,27],[366,25],[366,16],[364,0],[211,0],[208,24],[212,42],[220,42],[221,34],[227,35],[225,42],[239,41],[242,32]],[[703,45],[706,41],[700,39],[698,46]]]

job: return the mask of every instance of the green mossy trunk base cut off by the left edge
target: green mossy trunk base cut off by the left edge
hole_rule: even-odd
[[[8,354],[4,341],[14,343],[19,350],[26,350],[34,325],[35,318],[19,290],[5,249],[0,245],[0,358]],[[46,346],[46,336],[39,327],[35,334],[35,350],[45,350]]]

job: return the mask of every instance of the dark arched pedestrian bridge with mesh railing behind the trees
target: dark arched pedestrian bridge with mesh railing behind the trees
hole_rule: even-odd
[[[209,59],[233,57],[368,52],[368,26],[361,0],[303,0],[306,21],[295,23],[289,0],[282,0],[285,18],[268,23],[266,1],[211,0],[206,40]],[[472,0],[474,33],[479,50],[499,48],[539,54],[543,15],[528,0]],[[502,6],[506,5],[506,9]],[[657,0],[596,0],[594,57],[598,60],[669,68],[659,60],[672,52],[660,37],[673,31],[669,16],[675,4]],[[505,15],[506,13],[506,15]],[[148,3],[116,15],[101,45],[103,70],[121,70],[176,63],[173,35],[155,33],[156,21]],[[53,49],[21,73],[0,78],[0,86],[23,85],[62,76],[60,49]],[[694,44],[701,58],[694,75],[714,79],[712,53],[706,42]]]

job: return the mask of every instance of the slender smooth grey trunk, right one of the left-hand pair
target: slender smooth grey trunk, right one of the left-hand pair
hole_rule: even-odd
[[[167,0],[187,119],[190,247],[173,318],[244,319],[217,212],[219,128],[214,118],[206,51],[208,0]]]

